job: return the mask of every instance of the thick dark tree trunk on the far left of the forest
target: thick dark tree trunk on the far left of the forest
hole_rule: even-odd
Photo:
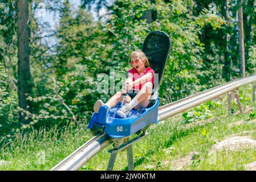
[[[18,97],[19,107],[27,110],[27,95],[31,93],[29,61],[29,1],[18,0]],[[30,110],[30,109],[29,109]],[[19,121],[27,123],[26,115],[19,113]]]

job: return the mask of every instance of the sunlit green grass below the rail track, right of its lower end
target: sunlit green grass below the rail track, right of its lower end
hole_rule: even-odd
[[[243,115],[246,118],[247,114]],[[172,122],[166,122],[163,125],[157,126],[151,130],[151,135],[148,138],[141,140],[134,146],[135,155],[135,169],[136,170],[172,170],[171,162],[183,158],[190,152],[197,152],[199,155],[200,163],[192,164],[184,168],[187,170],[237,170],[241,168],[241,164],[250,163],[256,160],[254,151],[245,150],[239,152],[231,152],[231,159],[229,163],[225,162],[227,157],[224,153],[220,152],[220,157],[217,158],[215,166],[209,165],[208,152],[213,144],[221,141],[226,136],[231,134],[240,133],[247,130],[255,130],[255,124],[244,123],[241,126],[228,128],[228,123],[239,121],[241,115],[235,117],[230,115],[227,118],[220,118],[212,123],[203,126],[196,126],[189,129],[184,129],[182,125],[176,126],[176,121],[180,121],[177,117]],[[182,129],[183,128],[183,129]],[[206,131],[206,134],[205,132]],[[252,136],[256,139],[256,132]],[[84,167],[86,169],[102,170],[107,168],[109,154],[101,152]],[[101,163],[99,164],[99,161]],[[169,162],[166,164],[166,162]],[[238,165],[239,164],[239,165]],[[116,164],[114,169],[124,170],[127,169],[126,152],[121,152],[117,155]]]

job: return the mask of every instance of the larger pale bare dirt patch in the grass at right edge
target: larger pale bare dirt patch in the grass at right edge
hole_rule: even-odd
[[[249,136],[244,137],[229,137],[221,142],[213,145],[212,150],[231,150],[237,151],[243,148],[256,147],[256,140],[251,139]]]

